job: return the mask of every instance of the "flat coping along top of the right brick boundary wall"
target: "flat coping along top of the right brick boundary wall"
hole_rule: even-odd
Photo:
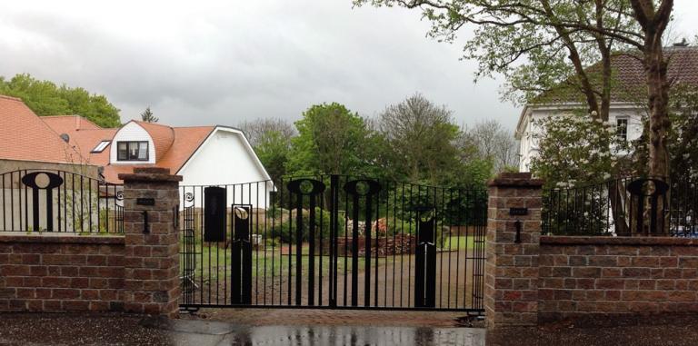
[[[638,246],[698,246],[698,239],[677,237],[611,237],[542,235],[546,245],[638,245]]]

